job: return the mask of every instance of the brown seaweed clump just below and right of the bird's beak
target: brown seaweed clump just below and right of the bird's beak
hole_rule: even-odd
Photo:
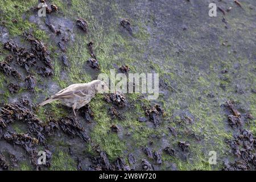
[[[115,93],[111,94],[106,94],[104,99],[106,102],[112,102],[114,105],[118,107],[124,107],[126,105],[125,95],[120,91],[116,91]]]

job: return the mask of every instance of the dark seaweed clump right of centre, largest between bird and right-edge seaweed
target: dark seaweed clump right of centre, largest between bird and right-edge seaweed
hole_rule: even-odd
[[[153,106],[151,109],[146,109],[145,114],[150,117],[150,121],[154,123],[156,127],[160,124],[159,115],[162,115],[164,113],[162,107],[160,107],[158,104]]]

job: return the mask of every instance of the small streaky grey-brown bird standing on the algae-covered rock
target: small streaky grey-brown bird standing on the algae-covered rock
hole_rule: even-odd
[[[46,101],[43,101],[38,106],[44,106],[53,101],[60,101],[62,105],[72,107],[76,116],[76,109],[78,110],[88,104],[96,93],[106,93],[108,90],[108,85],[101,80],[93,80],[84,84],[72,84],[47,98]]]

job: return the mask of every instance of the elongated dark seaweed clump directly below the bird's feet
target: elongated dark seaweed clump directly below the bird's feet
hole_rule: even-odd
[[[85,142],[89,142],[90,138],[86,135],[84,128],[77,122],[76,118],[68,116],[61,118],[59,126],[64,133],[71,137],[80,137]]]

